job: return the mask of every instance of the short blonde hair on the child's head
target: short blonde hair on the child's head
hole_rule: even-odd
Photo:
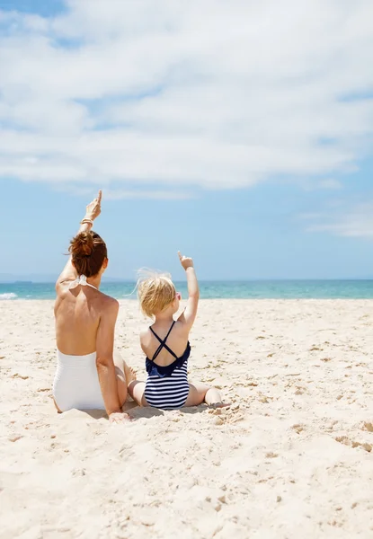
[[[138,300],[141,311],[151,318],[173,304],[176,288],[171,275],[153,270],[140,270],[138,277]]]

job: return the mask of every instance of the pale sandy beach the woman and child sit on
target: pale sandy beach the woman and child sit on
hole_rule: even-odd
[[[225,411],[58,415],[53,302],[0,303],[1,539],[373,537],[373,302],[202,301]],[[145,378],[137,302],[116,347]]]

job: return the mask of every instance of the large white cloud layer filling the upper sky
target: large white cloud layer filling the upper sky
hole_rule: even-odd
[[[369,154],[373,100],[345,98],[373,90],[370,0],[68,6],[0,13],[0,177],[336,189]]]

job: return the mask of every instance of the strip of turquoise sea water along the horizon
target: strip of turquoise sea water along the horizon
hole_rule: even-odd
[[[187,296],[185,282],[176,283]],[[102,292],[117,299],[135,299],[135,283],[103,283]],[[132,292],[132,295],[129,296]],[[373,280],[202,281],[203,299],[373,299]],[[54,283],[0,284],[1,299],[54,299]]]

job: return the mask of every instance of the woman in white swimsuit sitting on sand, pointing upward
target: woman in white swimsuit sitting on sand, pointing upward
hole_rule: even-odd
[[[121,407],[133,374],[120,354],[113,356],[119,303],[99,291],[108,267],[106,245],[92,230],[101,199],[100,191],[87,206],[56,284],[58,368],[53,397],[59,412],[106,410],[111,423],[118,423],[129,420]]]

